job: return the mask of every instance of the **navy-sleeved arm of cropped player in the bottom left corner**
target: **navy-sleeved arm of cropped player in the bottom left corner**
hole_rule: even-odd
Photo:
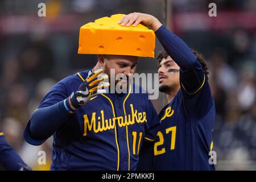
[[[6,142],[3,132],[0,130],[0,164],[8,171],[30,171],[31,168],[27,166]]]

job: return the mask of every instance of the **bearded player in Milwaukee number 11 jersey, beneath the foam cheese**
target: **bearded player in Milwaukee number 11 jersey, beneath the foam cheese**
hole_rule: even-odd
[[[154,142],[159,118],[147,94],[106,93],[115,75],[128,77],[138,57],[98,55],[95,67],[65,77],[31,115],[24,138],[40,145],[53,135],[52,170],[135,170],[144,142]],[[134,85],[133,85],[134,86]]]

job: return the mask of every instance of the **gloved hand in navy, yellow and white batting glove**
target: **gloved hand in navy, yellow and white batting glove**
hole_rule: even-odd
[[[106,93],[106,88],[109,87],[108,75],[102,73],[102,69],[92,72],[84,82],[81,83],[76,93],[72,93],[70,100],[73,107],[76,109],[85,105],[90,98],[98,94]]]

